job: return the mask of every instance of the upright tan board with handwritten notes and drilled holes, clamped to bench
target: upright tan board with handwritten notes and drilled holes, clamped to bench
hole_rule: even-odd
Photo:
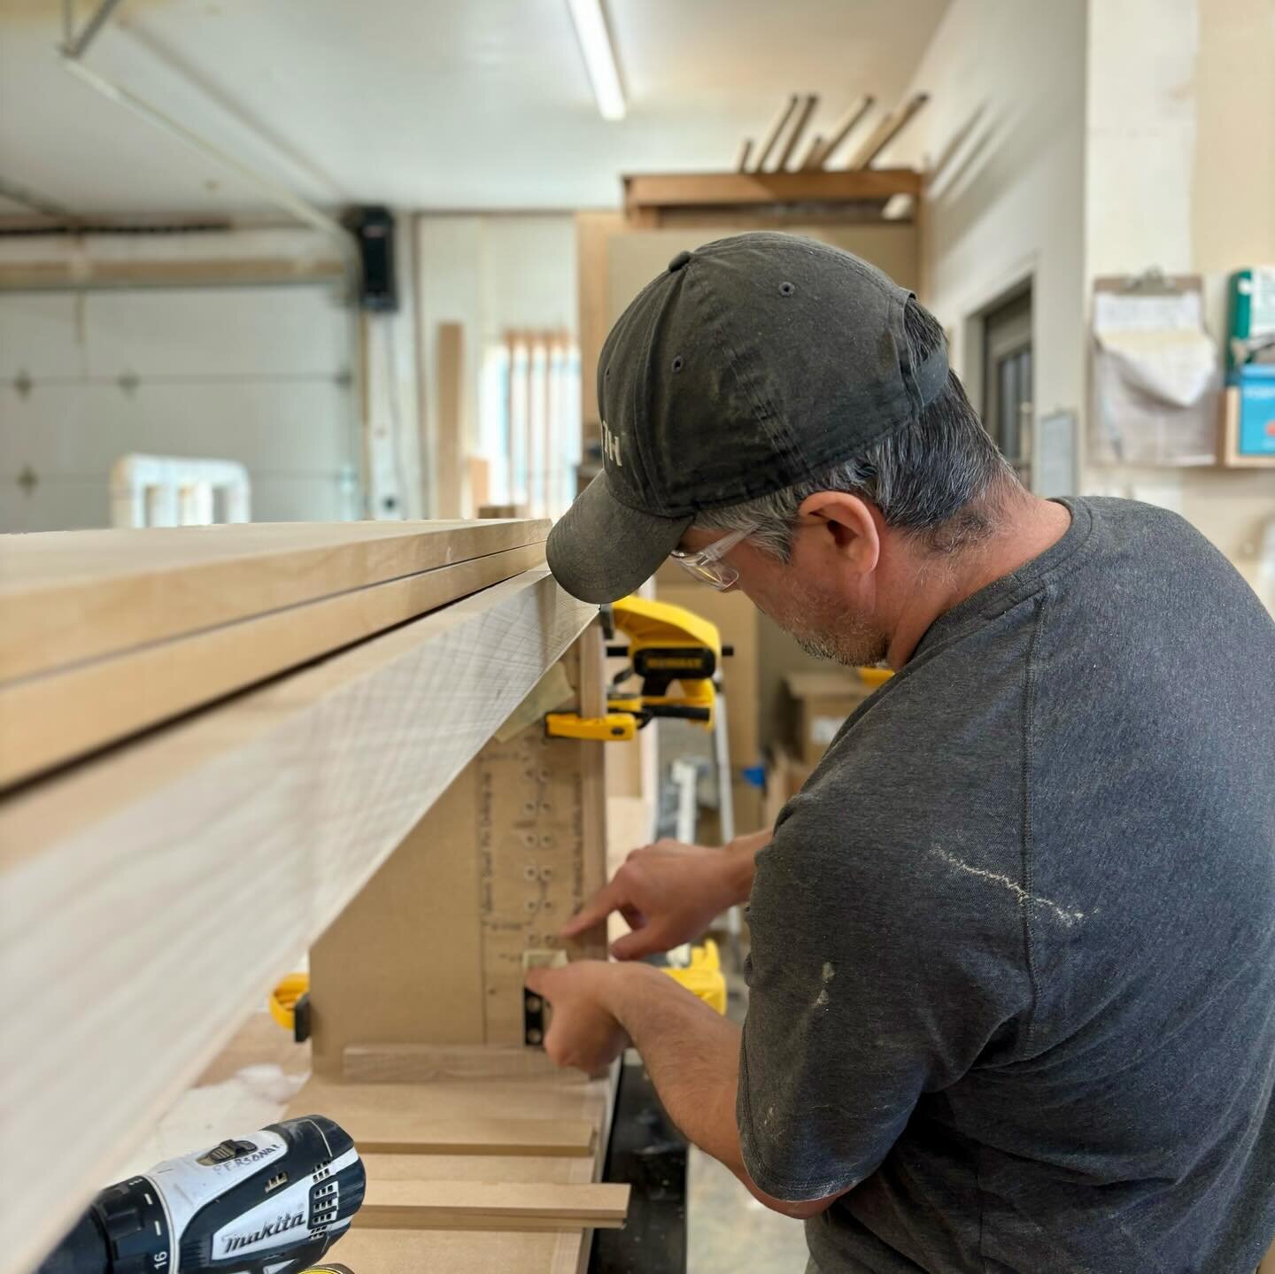
[[[597,625],[564,662],[601,712]],[[311,951],[316,1075],[339,1079],[351,1048],[521,1046],[523,951],[564,945],[604,880],[604,746],[537,721],[458,775]],[[601,955],[604,935],[570,950]]]

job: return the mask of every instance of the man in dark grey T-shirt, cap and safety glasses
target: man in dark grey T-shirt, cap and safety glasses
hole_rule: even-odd
[[[606,471],[548,543],[564,588],[613,599],[674,552],[896,675],[773,839],[640,851],[574,923],[621,911],[634,956],[750,899],[742,1037],[648,965],[581,962],[534,974],[551,1056],[631,1041],[824,1274],[1252,1271],[1275,1233],[1252,592],[1173,514],[1029,495],[933,319],[819,244],[677,256],[598,402]]]

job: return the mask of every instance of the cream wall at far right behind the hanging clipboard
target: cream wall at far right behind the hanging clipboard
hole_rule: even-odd
[[[1090,6],[1086,277],[1202,274],[1219,344],[1229,272],[1275,264],[1272,65],[1275,0]],[[1176,509],[1269,589],[1256,550],[1275,473],[1090,465],[1086,485]]]

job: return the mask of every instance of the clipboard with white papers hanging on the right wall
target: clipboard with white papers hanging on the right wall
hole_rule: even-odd
[[[1094,281],[1090,458],[1207,465],[1218,459],[1221,366],[1198,274]]]

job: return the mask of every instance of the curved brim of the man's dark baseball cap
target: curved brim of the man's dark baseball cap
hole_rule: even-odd
[[[621,504],[599,473],[555,523],[544,546],[553,578],[581,602],[615,602],[655,574],[695,520]]]

